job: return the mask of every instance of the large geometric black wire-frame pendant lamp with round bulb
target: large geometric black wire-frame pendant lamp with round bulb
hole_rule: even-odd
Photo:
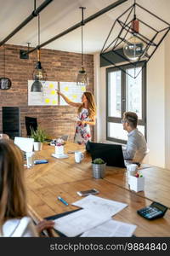
[[[105,66],[113,65],[136,79],[169,31],[167,21],[134,0],[133,5],[114,21],[100,52],[100,60]],[[133,73],[122,68],[123,62],[133,67]]]

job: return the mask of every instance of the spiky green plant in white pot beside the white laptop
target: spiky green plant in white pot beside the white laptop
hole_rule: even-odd
[[[46,132],[40,127],[37,127],[36,131],[31,129],[31,137],[34,139],[34,150],[42,150],[42,143],[44,143],[45,139],[47,138]]]

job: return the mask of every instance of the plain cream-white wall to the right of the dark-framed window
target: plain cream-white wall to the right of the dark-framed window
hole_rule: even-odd
[[[147,142],[149,163],[165,166],[165,63],[164,43],[147,66]]]

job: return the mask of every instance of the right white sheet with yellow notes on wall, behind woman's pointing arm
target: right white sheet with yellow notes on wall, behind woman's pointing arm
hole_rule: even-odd
[[[82,94],[86,91],[86,87],[77,86],[75,82],[59,82],[59,90],[72,102],[82,102]],[[68,105],[62,97],[60,97],[60,105]]]

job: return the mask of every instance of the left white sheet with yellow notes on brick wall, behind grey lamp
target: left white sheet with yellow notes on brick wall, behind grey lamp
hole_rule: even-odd
[[[55,106],[58,105],[58,96],[55,89],[58,89],[58,82],[42,82],[43,92],[32,92],[31,84],[33,80],[28,80],[28,105],[29,106]]]

